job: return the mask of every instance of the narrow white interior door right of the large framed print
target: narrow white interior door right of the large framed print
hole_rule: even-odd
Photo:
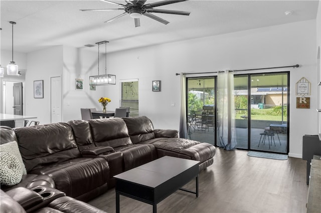
[[[61,77],[51,77],[51,122],[61,122]]]

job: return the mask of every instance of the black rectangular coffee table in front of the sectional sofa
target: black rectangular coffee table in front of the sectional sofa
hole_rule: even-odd
[[[200,161],[164,156],[117,174],[116,212],[119,212],[119,194],[156,205],[178,189],[195,193],[198,197],[198,174]],[[196,191],[181,188],[196,178]]]

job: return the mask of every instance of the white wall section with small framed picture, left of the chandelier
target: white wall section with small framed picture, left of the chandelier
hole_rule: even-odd
[[[94,48],[94,47],[92,47]],[[104,58],[100,57],[99,73],[104,73]],[[63,71],[63,121],[81,119],[80,108],[97,108],[101,110],[99,97],[105,96],[108,88],[113,86],[97,86],[96,90],[89,89],[89,76],[98,74],[98,54],[86,48],[64,46]],[[103,71],[103,72],[102,72]],[[84,79],[83,90],[75,89],[75,78]],[[108,104],[108,107],[111,107]]]

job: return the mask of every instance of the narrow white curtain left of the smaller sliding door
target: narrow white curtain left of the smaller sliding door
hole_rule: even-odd
[[[186,77],[181,73],[181,114],[180,114],[180,137],[187,138],[186,121]]]

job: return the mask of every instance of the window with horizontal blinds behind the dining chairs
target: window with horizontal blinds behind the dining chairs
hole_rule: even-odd
[[[129,116],[138,116],[138,79],[123,80],[121,82],[122,107],[129,107]]]

